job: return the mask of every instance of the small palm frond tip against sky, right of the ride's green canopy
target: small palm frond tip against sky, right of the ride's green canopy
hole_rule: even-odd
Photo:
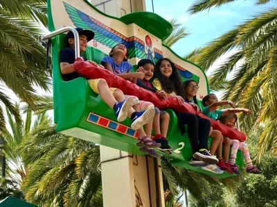
[[[181,26],[181,23],[179,23],[179,20],[177,18],[172,18],[168,21],[172,24],[173,30],[170,36],[165,41],[163,41],[163,44],[171,47],[175,43],[177,43],[177,41],[188,36],[189,33],[187,32],[188,29],[186,27]]]

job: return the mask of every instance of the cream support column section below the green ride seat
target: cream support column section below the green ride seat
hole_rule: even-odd
[[[161,161],[100,146],[104,207],[164,207]]]

